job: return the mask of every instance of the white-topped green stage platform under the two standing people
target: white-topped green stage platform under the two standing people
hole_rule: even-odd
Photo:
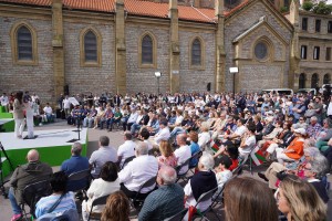
[[[18,139],[14,138],[14,133],[1,133],[0,141],[13,168],[27,164],[25,156],[30,149],[37,149],[40,152],[41,161],[48,162],[50,166],[60,166],[63,160],[71,157],[72,143],[68,141],[77,138],[74,129],[37,130],[34,131],[34,135],[38,136],[35,139]],[[27,131],[23,135],[25,136]],[[81,139],[77,141],[82,144],[82,156],[86,156],[87,129],[83,128],[80,135]],[[3,152],[1,152],[1,157],[4,157]],[[2,166],[4,176],[9,175],[8,160],[4,160]]]

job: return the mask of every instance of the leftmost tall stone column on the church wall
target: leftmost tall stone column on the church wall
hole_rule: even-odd
[[[60,94],[63,94],[65,84],[62,0],[52,1],[52,34],[54,76],[54,94],[52,101],[56,104],[56,98]]]

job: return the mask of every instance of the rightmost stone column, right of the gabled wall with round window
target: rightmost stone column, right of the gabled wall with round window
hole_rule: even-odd
[[[300,76],[300,52],[299,52],[299,1],[292,0],[290,4],[290,22],[294,27],[293,38],[291,41],[290,69],[289,69],[289,87],[294,91],[299,90]]]

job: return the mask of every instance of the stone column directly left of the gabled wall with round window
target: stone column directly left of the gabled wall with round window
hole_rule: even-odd
[[[226,54],[224,44],[224,1],[216,0],[215,14],[218,19],[216,31],[216,92],[225,91],[225,67],[226,67]]]

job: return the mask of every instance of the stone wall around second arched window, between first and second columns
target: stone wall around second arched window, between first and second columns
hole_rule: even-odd
[[[92,27],[102,36],[102,65],[81,66],[80,33]],[[76,93],[115,93],[115,33],[112,23],[80,23],[65,21],[64,32],[64,72],[70,94]]]

